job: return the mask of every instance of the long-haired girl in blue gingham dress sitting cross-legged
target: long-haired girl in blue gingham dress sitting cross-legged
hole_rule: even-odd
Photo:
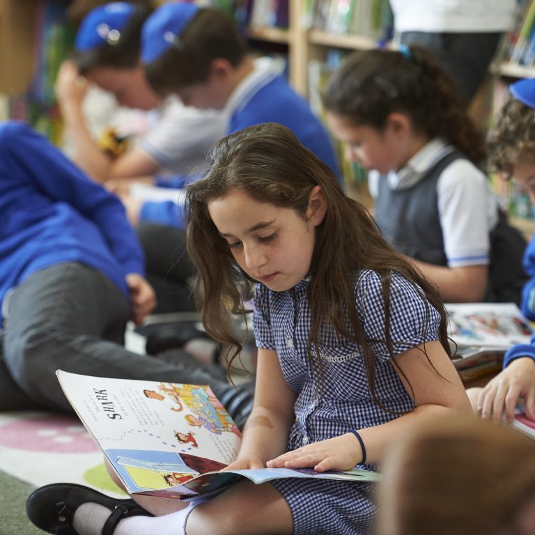
[[[237,350],[231,313],[256,282],[255,402],[228,468],[373,469],[415,422],[470,414],[436,290],[290,130],[267,123],[220,141],[187,199],[203,323]],[[79,535],[109,516],[95,493],[81,504],[49,486],[33,493],[30,518],[59,502]],[[370,483],[280,479],[126,518],[114,534],[368,534],[374,518]]]

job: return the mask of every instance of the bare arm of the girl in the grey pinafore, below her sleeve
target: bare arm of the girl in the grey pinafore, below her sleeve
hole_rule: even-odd
[[[440,293],[442,300],[452,303],[476,303],[485,300],[488,284],[488,265],[463,265],[445,267],[409,258],[431,281]]]

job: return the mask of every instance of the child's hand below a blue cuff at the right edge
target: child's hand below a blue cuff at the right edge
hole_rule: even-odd
[[[477,411],[481,418],[499,422],[505,410],[511,424],[520,398],[524,398],[526,416],[535,420],[535,360],[531,357],[513,360],[490,380],[477,398]]]

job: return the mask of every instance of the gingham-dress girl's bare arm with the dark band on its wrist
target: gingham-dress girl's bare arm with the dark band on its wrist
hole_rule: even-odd
[[[422,352],[424,346],[431,362]],[[428,342],[425,345],[411,348],[395,357],[395,361],[405,374],[403,377],[403,373],[396,367],[416,408],[387,424],[356,430],[366,447],[366,463],[379,463],[387,444],[403,433],[410,433],[412,422],[424,418],[435,419],[443,414],[454,412],[459,414],[472,412],[459,375],[440,342]],[[361,460],[362,448],[357,437],[353,433],[346,433],[284,453],[267,465],[288,468],[313,467],[318,472],[324,472],[325,470],[349,470]]]

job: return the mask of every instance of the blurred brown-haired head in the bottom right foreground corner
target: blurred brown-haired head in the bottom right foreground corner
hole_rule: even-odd
[[[391,442],[377,535],[532,535],[535,444],[504,426],[439,418]]]

